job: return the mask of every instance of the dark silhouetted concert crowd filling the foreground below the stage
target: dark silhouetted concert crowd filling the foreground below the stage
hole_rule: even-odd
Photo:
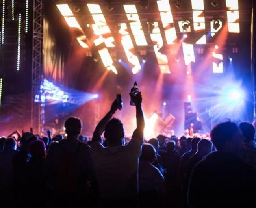
[[[76,117],[65,121],[65,138],[50,131],[0,138],[0,207],[256,206],[252,124],[217,124],[208,139],[158,135],[145,141],[142,96],[130,96],[137,127],[129,140],[113,118],[117,100],[89,141]]]

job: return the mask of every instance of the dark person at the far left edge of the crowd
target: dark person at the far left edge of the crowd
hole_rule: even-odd
[[[13,206],[13,157],[19,152],[15,150],[16,141],[8,138],[4,150],[0,151],[0,196],[1,206]]]

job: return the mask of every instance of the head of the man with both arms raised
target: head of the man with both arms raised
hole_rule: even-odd
[[[124,143],[124,126],[123,123],[113,118],[105,126],[104,137],[108,141],[108,146],[119,146]]]

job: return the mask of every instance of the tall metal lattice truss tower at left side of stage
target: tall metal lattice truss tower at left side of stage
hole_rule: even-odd
[[[31,127],[40,134],[44,124],[44,104],[34,102],[43,80],[43,0],[33,0]]]

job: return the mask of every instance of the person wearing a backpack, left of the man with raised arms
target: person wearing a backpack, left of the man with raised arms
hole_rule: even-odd
[[[70,117],[64,126],[67,139],[52,145],[46,158],[52,204],[62,208],[84,207],[89,205],[88,190],[93,176],[90,147],[78,140],[82,129],[79,118]]]

